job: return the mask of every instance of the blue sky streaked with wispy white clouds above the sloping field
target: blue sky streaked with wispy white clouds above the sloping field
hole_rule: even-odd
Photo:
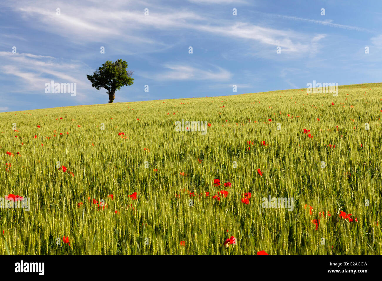
[[[134,84],[114,102],[382,80],[380,0],[2,0],[0,26],[0,112],[107,103],[86,75],[118,58]],[[51,80],[77,95],[46,94]]]

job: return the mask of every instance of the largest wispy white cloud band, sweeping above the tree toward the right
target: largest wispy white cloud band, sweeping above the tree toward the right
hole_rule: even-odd
[[[192,0],[197,3],[234,3],[231,0]],[[149,6],[149,15],[144,15],[142,5],[129,4],[125,8],[124,2],[113,1],[93,3],[91,7],[85,2],[70,3],[21,1],[21,5],[11,5],[10,8],[21,13],[24,19],[31,20],[31,26],[67,37],[76,44],[87,42],[108,42],[118,38],[122,44],[128,42],[130,49],[133,46],[140,52],[156,51],[158,47],[166,49],[171,46],[169,42],[154,39],[151,32],[159,30],[158,35],[171,36],[176,30],[189,30],[203,32],[206,36],[229,37],[246,41],[257,41],[265,45],[281,46],[285,52],[301,54],[309,52],[310,38],[306,34],[282,29],[265,28],[246,22],[235,22],[211,16],[209,11],[190,11],[184,8],[171,8],[169,6]],[[236,1],[235,1],[236,3]],[[56,15],[56,8],[61,7],[61,15]],[[70,11],[70,12],[69,12]],[[295,18],[296,17],[287,17]],[[305,20],[305,19],[301,19]],[[330,23],[325,23],[330,24]],[[148,32],[148,33],[146,33]],[[163,38],[157,36],[156,38]],[[176,38],[176,37],[175,37]]]

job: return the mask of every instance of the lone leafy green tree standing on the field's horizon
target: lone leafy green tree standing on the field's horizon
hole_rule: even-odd
[[[92,83],[92,87],[97,90],[104,88],[109,94],[109,104],[115,99],[115,90],[119,90],[122,86],[133,84],[134,78],[131,75],[134,71],[126,70],[127,62],[118,59],[116,62],[105,62],[102,67],[95,70],[93,75],[86,75],[87,79]]]

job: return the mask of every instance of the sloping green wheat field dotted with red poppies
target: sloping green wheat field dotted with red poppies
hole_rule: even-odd
[[[380,255],[381,110],[373,83],[0,113],[0,197],[30,198],[0,254]]]

